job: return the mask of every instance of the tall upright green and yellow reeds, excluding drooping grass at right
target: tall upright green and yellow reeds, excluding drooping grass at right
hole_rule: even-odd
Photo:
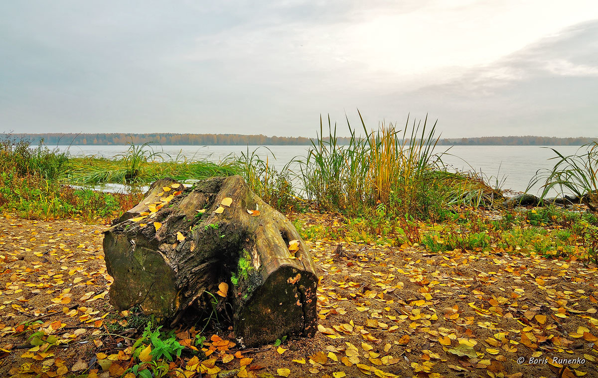
[[[361,209],[382,203],[390,213],[421,216],[427,211],[421,197],[426,173],[438,167],[440,155],[434,153],[438,142],[435,127],[409,118],[405,128],[380,124],[368,132],[358,111],[364,136],[349,128],[349,144],[338,145],[337,125],[328,116],[328,137],[320,120],[317,143],[312,142],[300,177],[308,199],[329,211],[357,215]],[[431,193],[432,187],[427,188]]]

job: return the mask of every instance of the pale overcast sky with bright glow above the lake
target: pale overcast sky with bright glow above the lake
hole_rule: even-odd
[[[598,136],[598,1],[2,1],[0,132]]]

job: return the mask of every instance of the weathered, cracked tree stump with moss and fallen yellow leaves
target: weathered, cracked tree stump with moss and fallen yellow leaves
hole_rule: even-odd
[[[315,334],[318,277],[309,251],[240,176],[190,188],[154,182],[105,231],[103,248],[118,309],[138,304],[172,324],[189,312],[232,312],[246,346]]]

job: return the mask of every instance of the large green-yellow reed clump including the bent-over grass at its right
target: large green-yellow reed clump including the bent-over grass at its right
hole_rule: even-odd
[[[349,144],[339,145],[337,125],[328,117],[328,136],[320,121],[317,143],[301,161],[300,178],[307,199],[321,208],[358,217],[365,209],[385,206],[389,218],[443,220],[447,205],[491,205],[502,194],[479,176],[450,173],[443,153],[435,153],[436,123],[409,119],[402,130],[382,123],[359,137],[347,119]]]

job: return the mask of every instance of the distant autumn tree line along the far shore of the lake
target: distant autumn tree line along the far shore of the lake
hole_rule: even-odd
[[[315,138],[303,136],[266,136],[242,134],[177,134],[177,133],[16,133],[13,138],[26,139],[32,144],[45,145],[127,145],[157,143],[161,145],[311,145]],[[327,140],[328,138],[324,138]],[[348,144],[348,137],[337,137],[337,144]],[[438,145],[551,145],[575,146],[598,140],[579,136],[557,138],[555,136],[483,136],[480,138],[444,138]]]

